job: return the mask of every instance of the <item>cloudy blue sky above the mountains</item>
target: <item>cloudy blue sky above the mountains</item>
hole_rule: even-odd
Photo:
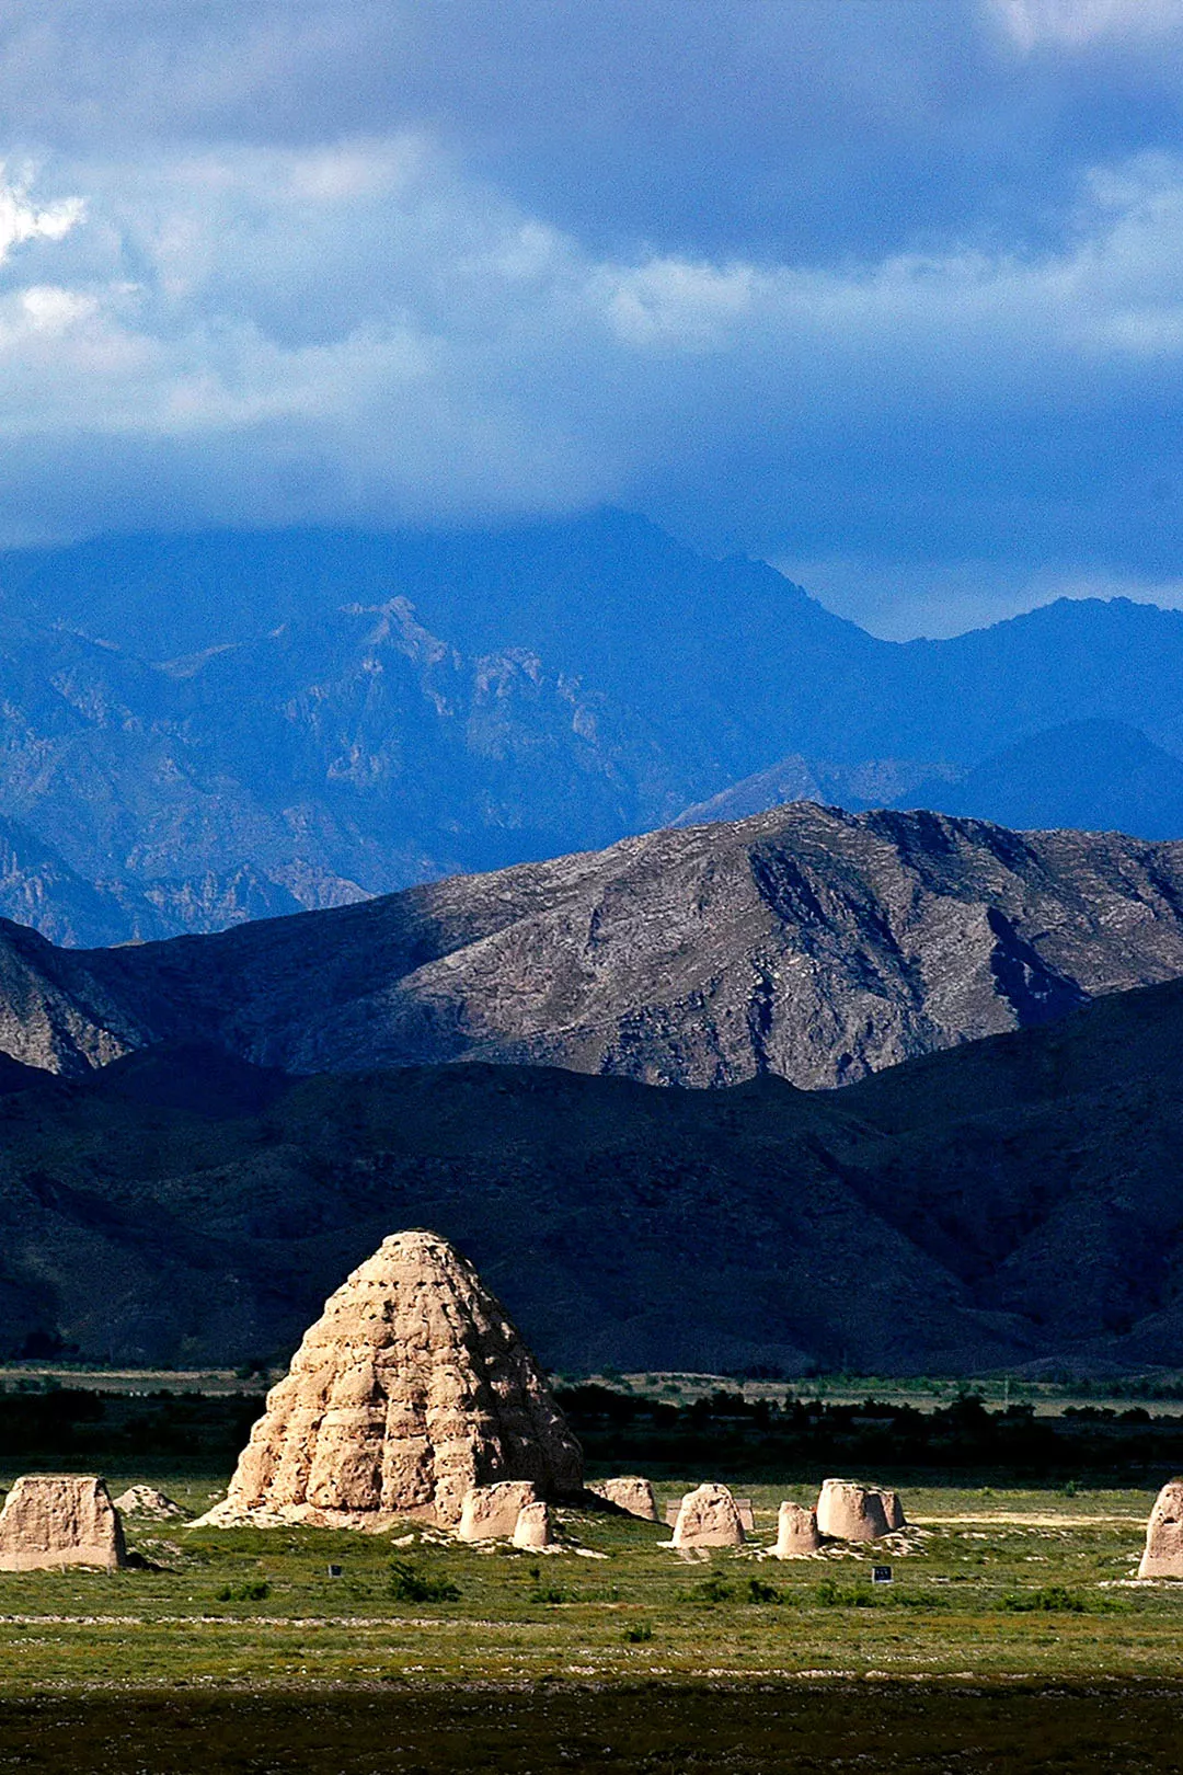
[[[1183,0],[0,0],[0,543],[601,504],[1183,604]]]

